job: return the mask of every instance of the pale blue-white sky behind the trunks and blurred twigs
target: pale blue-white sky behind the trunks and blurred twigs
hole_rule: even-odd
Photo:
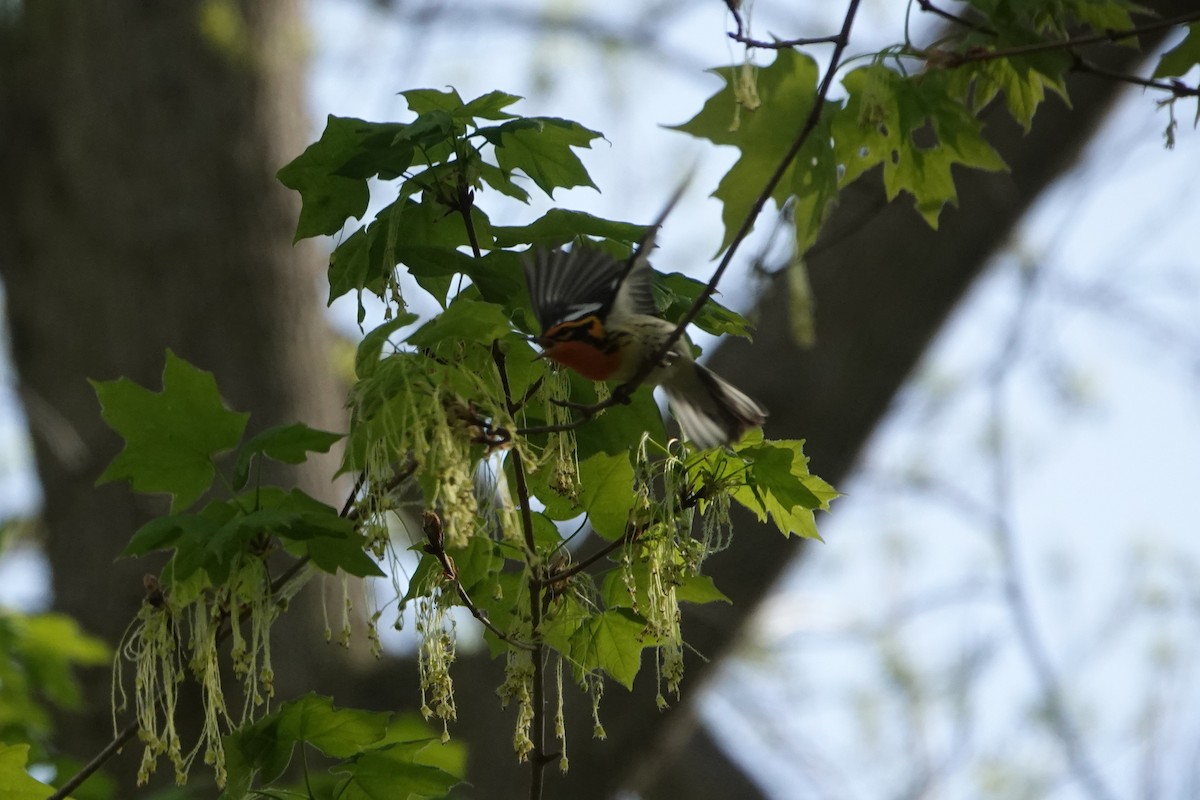
[[[793,5],[757,4],[756,35],[823,34],[840,20],[841,4],[780,8]],[[521,113],[607,137],[584,158],[602,191],[559,192],[557,205],[644,222],[701,161],[656,266],[707,277],[720,207],[703,196],[733,155],[660,126],[719,88],[703,68],[742,58],[722,4],[641,28],[629,20],[673,4],[546,4],[661,34],[649,56],[566,32],[534,43],[521,13],[493,16],[485,2],[469,6],[484,24],[418,26],[422,12],[467,7],[402,4],[406,17],[314,1],[313,136],[326,114],[404,119],[396,92],[408,88],[524,95]],[[894,41],[902,11],[866,0],[851,52]],[[707,692],[718,738],[773,796],[1086,796],[1064,780],[1061,738],[1039,722],[1031,650],[1051,664],[1116,794],[1184,798],[1200,786],[1200,686],[1188,669],[1200,655],[1200,134],[1184,113],[1166,151],[1154,100],[1128,92],[1080,167],[1031,211],[839,487],[826,542],[808,548]],[[748,285],[734,273],[725,301],[745,307]],[[334,314],[353,327],[352,308]],[[0,509],[29,512],[40,499],[2,374]],[[35,553],[0,559],[0,603],[44,602]],[[1028,610],[1032,648],[1014,607]],[[746,681],[762,691],[748,698]]]

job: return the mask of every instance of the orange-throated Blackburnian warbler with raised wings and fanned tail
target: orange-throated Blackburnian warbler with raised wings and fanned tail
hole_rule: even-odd
[[[587,245],[536,249],[524,261],[542,355],[592,380],[626,381],[654,357],[676,326],[660,317],[647,254],[653,234],[624,263]],[[700,447],[733,444],[767,411],[696,363],[682,337],[647,384],[662,386],[684,435]]]

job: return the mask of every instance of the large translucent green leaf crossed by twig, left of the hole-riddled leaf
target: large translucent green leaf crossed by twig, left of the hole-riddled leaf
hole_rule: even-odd
[[[725,79],[725,88],[709,97],[696,116],[676,126],[676,130],[740,150],[737,163],[713,193],[724,204],[725,239],[720,249],[725,249],[809,116],[816,100],[817,65],[803,53],[785,49],[776,53],[773,64],[758,70],[756,77],[750,76],[745,66],[722,67],[713,72]],[[755,80],[757,106],[745,97],[743,86],[748,77]],[[830,170],[836,169],[826,157],[826,139],[821,131],[809,137],[780,182],[775,193],[778,205],[782,206],[797,187],[814,197],[836,192],[836,186],[824,185]],[[816,167],[812,167],[814,162]],[[797,176],[797,170],[800,176]],[[805,188],[805,180],[814,186]],[[821,187],[815,185],[817,181],[822,182]]]

